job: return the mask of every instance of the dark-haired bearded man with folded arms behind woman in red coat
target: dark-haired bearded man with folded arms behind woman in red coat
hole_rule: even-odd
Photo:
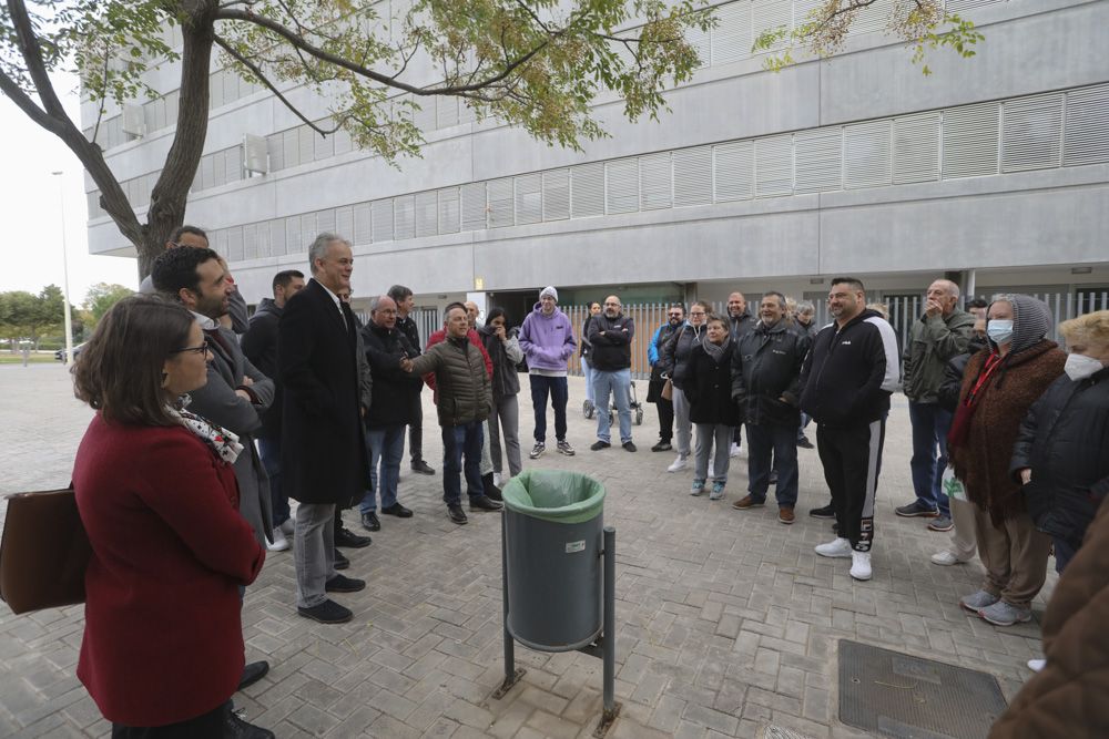
[[[220,326],[227,315],[234,286],[220,255],[208,248],[166,249],[154,260],[151,270],[154,288],[191,310],[204,331],[207,382],[190,394],[189,408],[205,419],[238,435],[243,453],[235,460],[238,483],[238,513],[254,528],[260,544],[268,545],[273,535],[269,476],[254,445],[254,434],[262,429],[262,415],[274,400],[274,382],[243,355],[238,338]],[[266,661],[243,667],[240,689],[262,679],[269,671]]]

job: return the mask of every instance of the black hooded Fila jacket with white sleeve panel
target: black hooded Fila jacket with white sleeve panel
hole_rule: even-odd
[[[828,427],[866,425],[889,412],[901,368],[889,321],[866,309],[821,329],[801,370],[801,408]]]

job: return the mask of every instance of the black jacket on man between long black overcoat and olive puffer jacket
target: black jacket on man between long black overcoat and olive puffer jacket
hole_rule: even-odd
[[[366,428],[409,423],[413,397],[419,393],[424,382],[418,376],[400,369],[400,358],[414,357],[416,349],[399,329],[381,328],[373,321],[363,327],[362,342],[374,377],[369,412],[363,419]]]

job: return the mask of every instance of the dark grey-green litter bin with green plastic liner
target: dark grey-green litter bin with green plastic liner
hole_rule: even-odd
[[[541,651],[591,644],[601,633],[604,486],[525,470],[502,494],[509,634]]]

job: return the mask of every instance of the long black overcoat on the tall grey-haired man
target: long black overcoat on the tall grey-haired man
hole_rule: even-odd
[[[336,308],[315,279],[288,299],[277,325],[282,489],[302,503],[347,507],[369,489],[354,327],[350,307]]]

